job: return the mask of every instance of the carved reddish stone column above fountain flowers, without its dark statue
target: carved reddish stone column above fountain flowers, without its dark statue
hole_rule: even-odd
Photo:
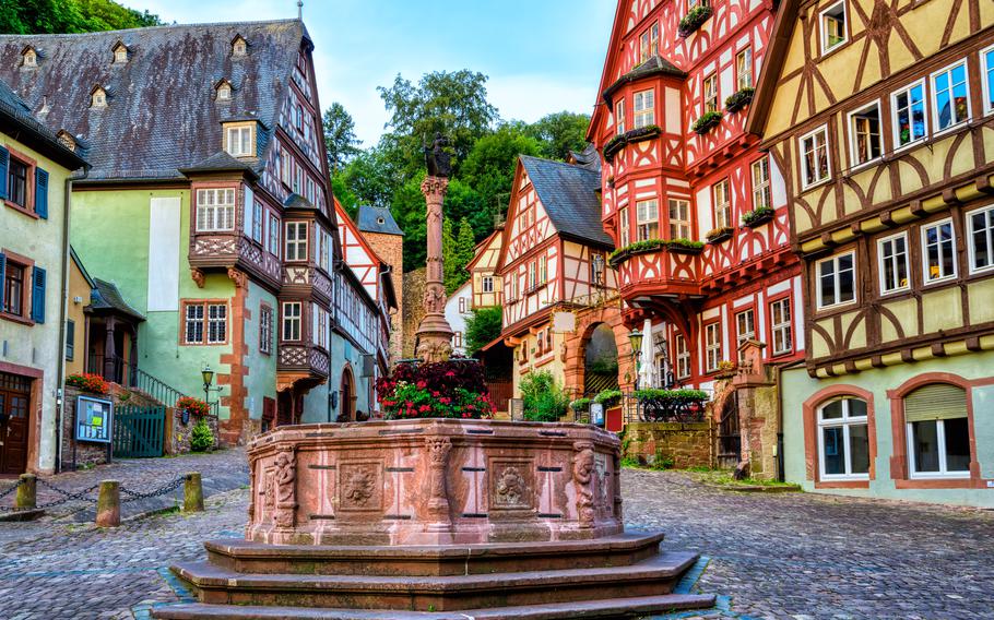
[[[442,202],[449,179],[427,177],[421,186],[428,207],[428,260],[425,273],[425,317],[417,326],[415,355],[426,362],[445,361],[452,354],[452,327],[446,321],[446,286],[441,259]]]

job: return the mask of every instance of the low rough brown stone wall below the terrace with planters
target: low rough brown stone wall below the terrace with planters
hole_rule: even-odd
[[[622,454],[644,465],[672,461],[671,467],[712,467],[714,425],[702,422],[629,422]]]

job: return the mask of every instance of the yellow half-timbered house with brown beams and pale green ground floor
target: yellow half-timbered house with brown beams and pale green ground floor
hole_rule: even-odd
[[[803,261],[788,478],[994,506],[994,5],[780,11],[749,128]]]

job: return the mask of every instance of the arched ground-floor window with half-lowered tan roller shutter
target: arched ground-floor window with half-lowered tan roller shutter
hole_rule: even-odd
[[[970,476],[967,392],[933,383],[904,397],[909,470],[912,478]]]

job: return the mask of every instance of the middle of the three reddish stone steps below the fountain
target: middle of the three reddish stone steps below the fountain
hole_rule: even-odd
[[[453,611],[670,594],[696,561],[671,552],[624,567],[442,576],[246,574],[209,562],[173,571],[211,605]]]

